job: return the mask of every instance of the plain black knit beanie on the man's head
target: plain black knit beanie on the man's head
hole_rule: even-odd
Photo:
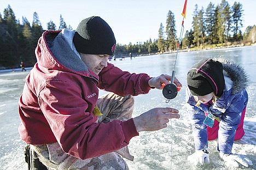
[[[73,42],[84,54],[109,54],[115,51],[115,36],[108,23],[98,16],[81,21],[75,30]]]

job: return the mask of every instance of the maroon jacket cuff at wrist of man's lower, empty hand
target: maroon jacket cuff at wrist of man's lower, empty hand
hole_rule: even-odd
[[[124,142],[126,142],[127,144],[129,144],[132,137],[139,135],[139,133],[136,130],[136,126],[133,122],[133,118],[121,122],[121,126],[125,137]]]

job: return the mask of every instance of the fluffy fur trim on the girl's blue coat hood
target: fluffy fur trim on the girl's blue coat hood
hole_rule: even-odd
[[[224,73],[224,76],[230,77],[233,81],[232,94],[236,94],[248,86],[249,78],[241,65],[236,64],[233,60],[224,58],[222,56],[213,58],[213,60],[218,60],[223,64],[223,70],[226,72],[226,74]]]

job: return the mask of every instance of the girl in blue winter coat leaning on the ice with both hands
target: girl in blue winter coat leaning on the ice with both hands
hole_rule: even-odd
[[[187,111],[191,116],[195,153],[188,160],[210,163],[208,141],[218,138],[219,156],[228,166],[248,167],[252,161],[232,153],[234,140],[245,134],[248,77],[240,65],[225,58],[202,59],[187,75]]]

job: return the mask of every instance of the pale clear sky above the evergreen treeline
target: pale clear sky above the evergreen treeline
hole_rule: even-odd
[[[184,30],[190,30],[195,10],[195,4],[199,9],[207,8],[212,2],[215,6],[222,0],[188,0],[187,17],[184,20]],[[1,0],[0,13],[10,7],[14,10],[16,19],[22,21],[22,16],[32,23],[33,13],[37,12],[39,20],[44,29],[46,23],[52,20],[59,28],[60,14],[67,25],[76,29],[79,22],[89,16],[100,16],[113,29],[117,43],[136,44],[144,42],[151,38],[158,38],[160,23],[166,26],[168,11],[171,10],[176,20],[176,30],[179,36],[181,32],[182,10],[185,0],[55,0],[55,1],[37,1],[37,0]],[[228,0],[230,6],[234,0]],[[243,28],[256,25],[256,1],[254,0],[236,0],[243,5]]]

